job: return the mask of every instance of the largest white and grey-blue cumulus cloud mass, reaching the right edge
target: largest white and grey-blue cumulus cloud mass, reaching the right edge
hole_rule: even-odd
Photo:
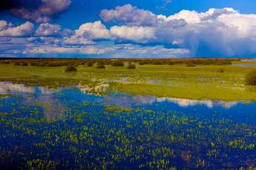
[[[139,18],[141,12],[148,15]],[[167,17],[125,5],[102,10],[100,16],[107,23],[117,20],[124,24],[110,28],[112,39],[119,43],[155,43],[170,48],[176,45],[203,55],[256,53],[256,15],[240,14],[233,8],[210,8],[206,12],[182,10]],[[145,24],[148,20],[154,24]]]

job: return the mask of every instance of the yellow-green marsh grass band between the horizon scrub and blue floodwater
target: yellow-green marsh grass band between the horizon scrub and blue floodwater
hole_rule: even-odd
[[[243,61],[241,61],[243,62]],[[253,62],[249,62],[253,63]],[[136,69],[105,66],[78,66],[76,73],[65,73],[62,67],[0,65],[0,81],[24,83],[26,86],[61,87],[81,85],[100,93],[101,84],[109,84],[110,90],[130,94],[176,97],[185,99],[256,100],[253,86],[245,85],[245,75],[253,67],[136,65]],[[220,73],[224,69],[224,73]],[[159,82],[150,83],[152,80]],[[89,90],[89,91],[90,91]],[[102,92],[100,93],[102,94]]]

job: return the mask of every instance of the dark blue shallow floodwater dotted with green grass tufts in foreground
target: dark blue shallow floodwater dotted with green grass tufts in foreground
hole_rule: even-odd
[[[0,83],[1,168],[255,168],[256,103]]]

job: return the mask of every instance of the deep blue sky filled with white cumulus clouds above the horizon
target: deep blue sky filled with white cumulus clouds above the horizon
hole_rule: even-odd
[[[255,0],[1,0],[0,57],[256,58]]]

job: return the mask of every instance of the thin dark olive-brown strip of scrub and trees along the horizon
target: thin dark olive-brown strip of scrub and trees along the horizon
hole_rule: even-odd
[[[139,65],[231,65],[232,61],[241,61],[241,59],[212,59],[212,58],[195,58],[195,59],[81,59],[81,58],[37,58],[37,59],[3,59],[0,63],[14,63],[22,66],[46,66],[60,67],[68,66],[69,63],[75,63],[75,66],[86,65],[93,66],[95,63],[101,65],[122,66],[118,62],[138,63]],[[98,66],[98,65],[97,65]]]

